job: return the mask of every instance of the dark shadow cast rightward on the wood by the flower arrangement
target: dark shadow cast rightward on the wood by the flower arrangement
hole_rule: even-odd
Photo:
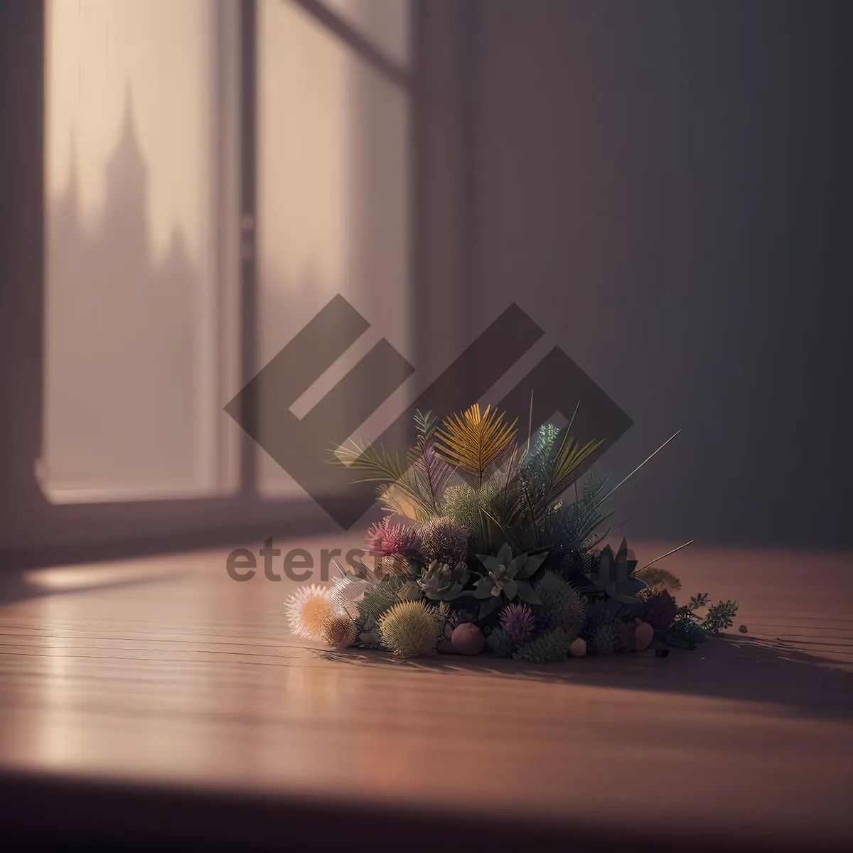
[[[839,668],[849,664],[836,664],[798,652],[779,640],[723,635],[709,638],[692,652],[672,649],[666,658],[656,658],[649,651],[540,665],[456,655],[397,661],[381,652],[317,650],[317,653],[326,659],[362,666],[415,666],[456,675],[481,673],[604,688],[657,690],[765,702],[784,706],[803,717],[853,719],[853,671]],[[844,648],[839,647],[839,653],[849,653],[853,664],[853,630],[850,641],[844,643]]]

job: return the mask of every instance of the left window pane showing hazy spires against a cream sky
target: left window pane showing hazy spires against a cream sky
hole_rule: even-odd
[[[48,3],[40,475],[56,500],[235,482],[224,8]]]

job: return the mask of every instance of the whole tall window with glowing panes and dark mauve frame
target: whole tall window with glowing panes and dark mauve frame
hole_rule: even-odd
[[[412,317],[465,267],[462,4],[13,5],[0,96],[44,102],[3,142],[0,545],[328,523],[223,406],[335,293],[371,329],[295,414],[380,337],[417,363]]]

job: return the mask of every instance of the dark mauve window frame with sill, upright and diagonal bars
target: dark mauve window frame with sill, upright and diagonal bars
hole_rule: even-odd
[[[458,306],[471,272],[472,200],[468,92],[471,7],[458,0],[411,0],[409,76],[319,0],[293,2],[345,41],[380,73],[410,87],[412,174],[412,311]],[[241,227],[241,385],[257,363],[256,0],[239,0]],[[0,314],[0,568],[158,553],[182,548],[320,533],[334,522],[310,497],[264,498],[258,492],[258,446],[241,434],[240,482],[234,494],[116,502],[51,503],[38,485],[44,423],[44,0],[0,5],[0,109],[13,116],[0,136],[6,208],[0,251],[8,258]],[[436,300],[436,293],[443,299]],[[427,294],[430,294],[427,297]],[[414,324],[415,351],[428,334]],[[461,342],[460,342],[461,348]],[[223,404],[227,401],[223,401]]]

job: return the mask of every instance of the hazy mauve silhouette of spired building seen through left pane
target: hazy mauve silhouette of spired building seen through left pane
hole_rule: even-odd
[[[179,229],[156,259],[148,165],[130,91],[106,165],[106,200],[85,221],[75,140],[67,189],[47,218],[45,447],[51,485],[191,485],[197,454],[200,272]]]

